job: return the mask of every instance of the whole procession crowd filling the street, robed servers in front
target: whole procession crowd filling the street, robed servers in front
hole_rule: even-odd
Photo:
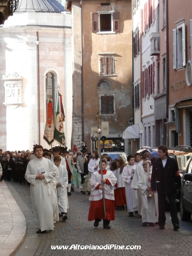
[[[127,209],[129,217],[141,218],[143,227],[158,224],[164,229],[168,196],[173,229],[177,230],[175,199],[181,183],[177,163],[168,156],[166,146],[158,148],[158,155],[159,158],[151,157],[144,150],[142,156],[128,156],[124,163],[122,158],[112,160],[107,153],[100,159],[97,150],[87,153],[85,145],[80,151],[74,145],[70,153],[64,147],[47,150],[41,145],[36,145],[33,152],[3,153],[0,149],[0,179],[31,185],[37,233],[53,230],[59,217],[62,221],[68,219],[68,196],[75,187],[90,195],[88,220],[94,220],[94,227],[103,220],[103,228],[109,229],[110,221],[115,220],[115,210]]]

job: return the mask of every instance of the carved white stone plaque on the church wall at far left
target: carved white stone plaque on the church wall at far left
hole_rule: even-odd
[[[8,105],[21,105],[21,86],[22,78],[16,73],[10,73],[7,76],[3,76],[5,87],[5,106]]]

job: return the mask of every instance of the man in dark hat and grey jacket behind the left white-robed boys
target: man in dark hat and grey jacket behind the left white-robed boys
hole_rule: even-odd
[[[71,196],[71,175],[73,174],[75,164],[73,162],[73,157],[68,155],[67,148],[61,149],[63,153],[63,158],[66,162],[67,172],[68,172],[68,196]]]

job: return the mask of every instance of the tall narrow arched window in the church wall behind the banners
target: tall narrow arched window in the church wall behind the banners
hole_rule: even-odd
[[[55,116],[55,76],[53,73],[48,72],[46,74],[45,86],[46,86],[46,103],[52,102],[53,116]]]

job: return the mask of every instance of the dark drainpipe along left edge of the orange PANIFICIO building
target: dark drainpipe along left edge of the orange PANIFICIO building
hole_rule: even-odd
[[[169,18],[168,18],[168,0],[166,0],[166,118],[169,122]],[[169,141],[169,129],[167,126],[167,146]]]

